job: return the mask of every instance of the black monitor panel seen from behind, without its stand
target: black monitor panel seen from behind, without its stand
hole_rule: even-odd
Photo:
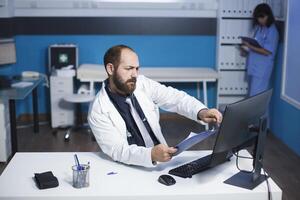
[[[253,127],[259,126],[259,120],[266,114],[272,90],[229,104],[225,108],[214,152],[238,150],[252,140],[257,133]]]

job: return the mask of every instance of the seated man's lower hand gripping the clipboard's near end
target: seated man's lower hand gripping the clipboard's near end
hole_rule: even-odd
[[[171,160],[172,155],[177,151],[174,147],[168,147],[165,144],[159,144],[152,148],[151,158],[152,161],[166,162]]]

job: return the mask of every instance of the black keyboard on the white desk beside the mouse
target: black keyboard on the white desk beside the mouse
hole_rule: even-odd
[[[191,178],[194,174],[209,168],[211,163],[212,154],[202,157],[198,160],[194,160],[187,164],[181,165],[169,171],[169,174],[179,176],[182,178]]]

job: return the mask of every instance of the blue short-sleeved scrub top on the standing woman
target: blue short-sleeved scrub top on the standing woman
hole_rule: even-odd
[[[248,75],[269,79],[273,70],[279,39],[275,24],[272,24],[270,27],[256,26],[254,38],[264,49],[271,52],[271,54],[265,56],[250,50],[247,58]]]

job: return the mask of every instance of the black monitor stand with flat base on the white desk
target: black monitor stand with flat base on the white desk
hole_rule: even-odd
[[[260,183],[265,181],[268,177],[261,174],[263,153],[267,136],[267,119],[266,117],[261,117],[259,120],[259,130],[258,136],[254,148],[254,160],[253,167],[254,171],[252,173],[239,172],[229,179],[225,180],[225,184],[233,185],[236,187],[245,188],[248,190],[253,190]]]

